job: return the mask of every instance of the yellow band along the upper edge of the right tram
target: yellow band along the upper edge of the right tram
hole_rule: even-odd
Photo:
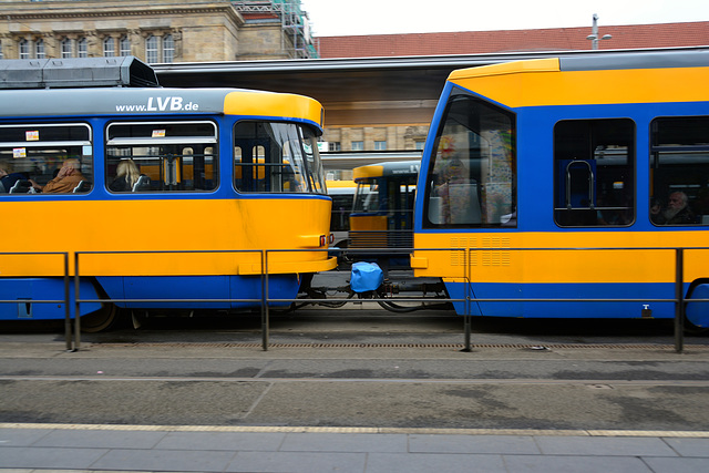
[[[449,80],[511,107],[709,100],[709,68],[559,72],[551,61],[456,71]]]

